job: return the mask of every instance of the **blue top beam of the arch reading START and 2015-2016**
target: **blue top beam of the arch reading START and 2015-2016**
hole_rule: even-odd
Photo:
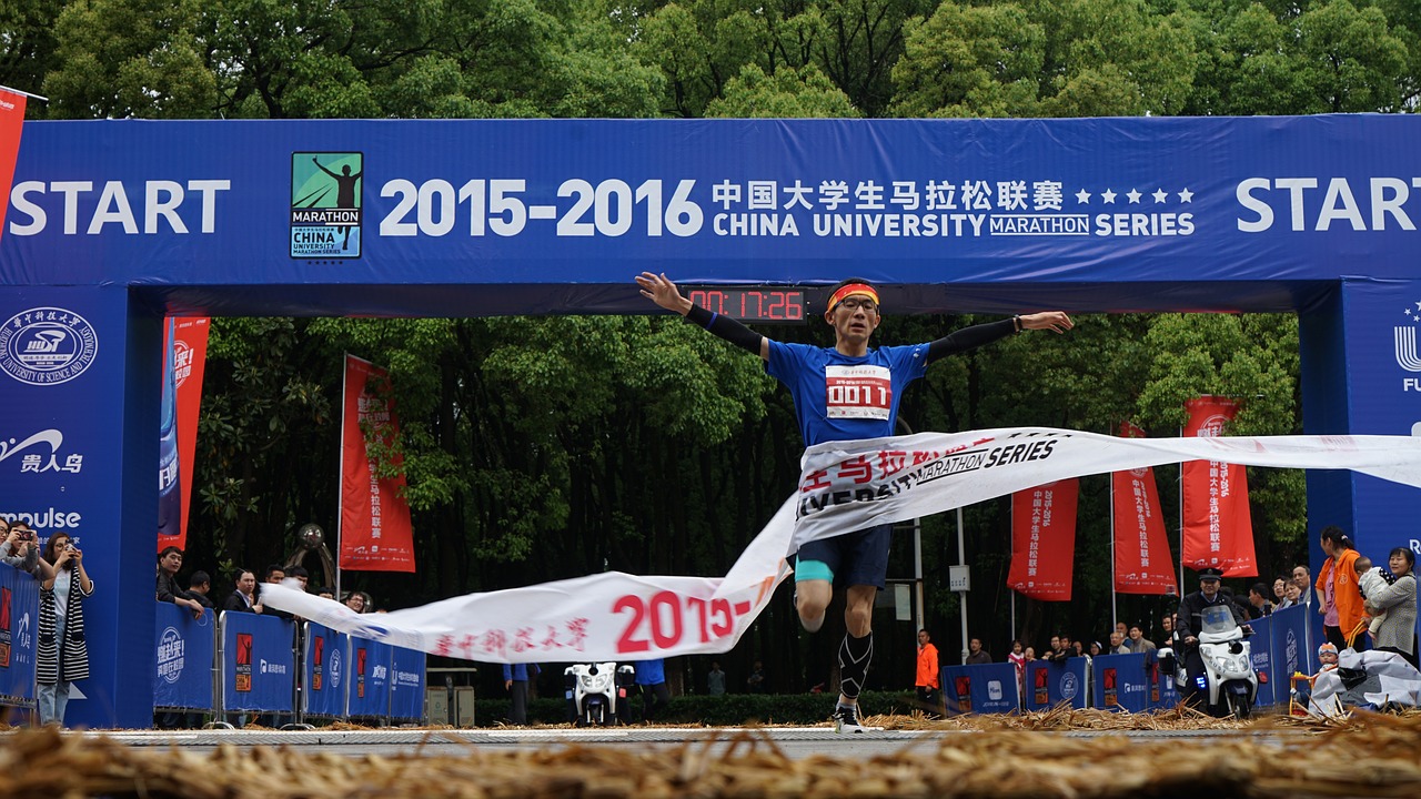
[[[901,310],[1016,310],[1042,284],[1091,284],[1090,309],[1292,310],[1337,263],[1412,277],[1418,138],[1404,114],[34,121],[0,284],[263,313],[647,313],[628,276],[679,262],[686,284],[919,286]],[[280,310],[270,284],[294,287]]]

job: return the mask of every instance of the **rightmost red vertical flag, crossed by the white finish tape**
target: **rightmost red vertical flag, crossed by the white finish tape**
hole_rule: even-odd
[[[1228,397],[1199,397],[1185,402],[1188,436],[1215,436],[1238,414]],[[1179,560],[1198,572],[1222,569],[1225,577],[1256,577],[1253,518],[1248,506],[1243,466],[1218,461],[1188,461],[1182,466],[1184,546]]]

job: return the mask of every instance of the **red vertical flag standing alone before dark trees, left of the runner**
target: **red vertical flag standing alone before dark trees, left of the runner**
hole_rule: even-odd
[[[388,372],[345,355],[342,404],[340,567],[414,572],[414,530],[409,505],[401,495],[405,478],[378,478],[375,456],[365,444],[368,438],[389,445],[399,435]],[[395,455],[394,463],[401,461]]]

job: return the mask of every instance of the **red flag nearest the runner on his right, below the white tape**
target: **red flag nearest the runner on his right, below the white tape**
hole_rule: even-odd
[[[1070,600],[1079,495],[1076,478],[1012,495],[1012,567],[1006,583],[1013,591],[1036,600]]]

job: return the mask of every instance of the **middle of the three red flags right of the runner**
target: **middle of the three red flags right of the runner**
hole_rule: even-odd
[[[1145,436],[1130,422],[1121,422],[1120,435]],[[1154,469],[1111,472],[1110,489],[1115,510],[1115,590],[1123,594],[1178,596]]]

